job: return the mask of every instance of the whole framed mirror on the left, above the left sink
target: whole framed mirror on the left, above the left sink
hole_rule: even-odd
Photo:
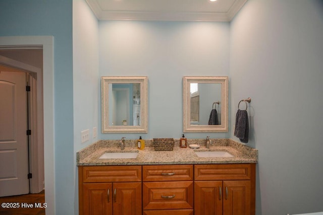
[[[148,78],[101,77],[101,132],[148,132]]]

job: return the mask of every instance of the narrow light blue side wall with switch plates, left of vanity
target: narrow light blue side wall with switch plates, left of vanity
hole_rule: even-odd
[[[76,152],[98,139],[100,79],[98,74],[98,21],[84,0],[73,1],[73,100],[74,100],[74,209],[78,214]],[[97,136],[93,137],[93,127]],[[81,144],[81,131],[89,140]],[[59,213],[58,213],[59,214]],[[63,214],[63,213],[62,213]],[[69,213],[73,214],[72,210]]]

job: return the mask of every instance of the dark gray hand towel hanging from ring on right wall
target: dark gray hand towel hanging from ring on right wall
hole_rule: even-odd
[[[241,142],[247,143],[249,140],[249,119],[246,110],[238,110],[236,114],[234,135],[238,137]]]

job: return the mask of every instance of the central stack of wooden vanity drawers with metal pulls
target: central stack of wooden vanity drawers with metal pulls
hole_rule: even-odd
[[[143,214],[193,215],[193,165],[142,167]]]

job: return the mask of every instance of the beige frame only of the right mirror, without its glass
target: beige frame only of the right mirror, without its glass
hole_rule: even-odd
[[[222,117],[220,125],[191,125],[191,83],[221,84]],[[183,77],[183,132],[228,132],[229,130],[229,78],[228,77]],[[211,101],[210,101],[211,102]],[[212,103],[211,103],[212,104]]]

